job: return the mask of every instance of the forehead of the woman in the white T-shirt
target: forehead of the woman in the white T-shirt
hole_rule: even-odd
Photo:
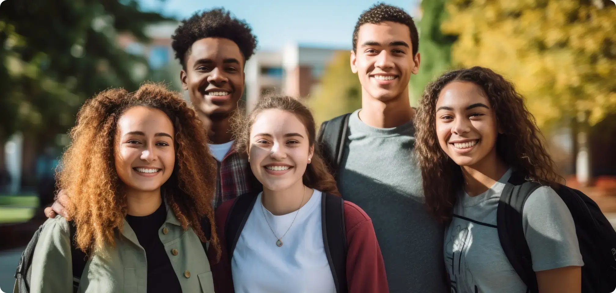
[[[261,111],[254,119],[251,137],[257,133],[272,135],[298,133],[306,137],[307,130],[296,114],[278,109],[269,109]]]

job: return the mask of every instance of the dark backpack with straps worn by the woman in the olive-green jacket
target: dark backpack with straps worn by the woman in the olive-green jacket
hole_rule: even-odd
[[[19,264],[17,265],[17,270],[15,271],[15,279],[17,279],[17,289],[19,293],[30,293],[30,281],[32,278],[32,257],[34,255],[34,248],[36,248],[36,243],[38,243],[39,236],[41,236],[41,231],[43,231],[44,224],[38,228],[34,232],[32,239],[26,245],[26,249],[22,252],[22,257],[19,260]],[[68,221],[68,227],[70,231],[70,239],[71,239],[71,258],[73,265],[73,292],[77,292],[79,288],[79,282],[81,281],[81,275],[83,274],[84,268],[86,268],[87,255],[81,251],[81,249],[77,248],[77,244],[75,243],[75,232],[76,227],[73,221]],[[209,219],[204,217],[203,223],[201,223],[201,227],[209,227]],[[203,233],[205,233],[206,238],[211,237],[211,231],[209,229],[203,229]],[[205,254],[208,254],[208,243],[201,243],[203,249],[205,250]]]

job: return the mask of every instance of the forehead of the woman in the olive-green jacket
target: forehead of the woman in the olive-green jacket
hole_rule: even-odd
[[[121,134],[131,131],[142,131],[145,134],[166,132],[172,134],[173,124],[163,111],[145,106],[134,106],[126,110],[118,120],[118,131]]]

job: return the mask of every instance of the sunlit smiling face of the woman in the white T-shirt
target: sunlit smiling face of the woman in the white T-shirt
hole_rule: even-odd
[[[250,168],[265,190],[303,184],[313,152],[306,126],[298,116],[278,109],[257,114],[250,131]]]

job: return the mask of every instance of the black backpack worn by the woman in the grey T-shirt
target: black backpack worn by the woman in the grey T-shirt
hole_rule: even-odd
[[[522,228],[522,207],[529,195],[542,185],[514,172],[498,203],[498,238],[517,275],[537,293],[537,276],[532,269],[530,249]],[[612,293],[616,287],[616,232],[596,203],[584,193],[561,185],[556,193],[567,205],[580,244],[582,292]]]

